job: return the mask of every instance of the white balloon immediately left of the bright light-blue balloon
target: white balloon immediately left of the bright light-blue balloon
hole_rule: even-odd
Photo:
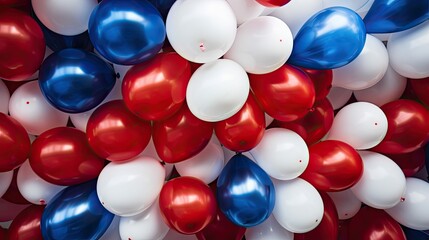
[[[239,63],[253,74],[265,74],[279,69],[289,58],[293,37],[280,19],[262,16],[240,25],[234,44],[224,58]]]

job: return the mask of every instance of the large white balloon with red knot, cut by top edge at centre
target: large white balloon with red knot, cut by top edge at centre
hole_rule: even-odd
[[[173,49],[196,63],[222,57],[234,42],[236,27],[234,12],[224,0],[177,0],[166,21]]]

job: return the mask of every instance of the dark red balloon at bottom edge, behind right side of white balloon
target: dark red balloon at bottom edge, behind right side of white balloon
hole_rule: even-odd
[[[338,213],[335,204],[325,192],[319,192],[323,200],[323,218],[310,232],[295,233],[294,240],[335,240],[338,238]]]

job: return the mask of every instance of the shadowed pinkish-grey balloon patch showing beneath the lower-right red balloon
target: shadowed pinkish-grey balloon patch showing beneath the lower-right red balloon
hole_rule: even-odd
[[[340,192],[328,192],[329,197],[335,204],[340,220],[350,219],[362,206],[362,202],[357,199],[351,189],[346,189]]]

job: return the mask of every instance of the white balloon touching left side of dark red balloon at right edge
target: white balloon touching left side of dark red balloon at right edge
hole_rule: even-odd
[[[348,143],[355,149],[375,147],[387,133],[387,117],[372,103],[356,102],[342,108],[334,118],[327,139]]]

